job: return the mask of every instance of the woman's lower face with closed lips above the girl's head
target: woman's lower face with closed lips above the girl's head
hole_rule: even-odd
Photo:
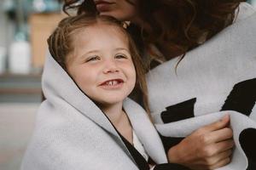
[[[112,16],[117,20],[134,20],[137,17],[138,0],[94,0],[102,15]]]

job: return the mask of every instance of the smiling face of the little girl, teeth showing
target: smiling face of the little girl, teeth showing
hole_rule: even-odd
[[[103,106],[122,103],[136,82],[128,38],[114,26],[97,24],[77,33],[67,72],[85,94]]]

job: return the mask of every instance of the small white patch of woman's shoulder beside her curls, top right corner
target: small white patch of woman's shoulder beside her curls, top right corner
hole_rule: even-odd
[[[249,3],[240,3],[239,8],[237,10],[238,10],[238,14],[235,22],[244,20],[256,12],[256,8],[254,8]]]

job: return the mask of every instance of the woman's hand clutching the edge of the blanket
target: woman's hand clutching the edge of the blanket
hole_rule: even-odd
[[[230,162],[234,141],[230,116],[197,129],[168,150],[168,160],[191,169],[216,169]]]

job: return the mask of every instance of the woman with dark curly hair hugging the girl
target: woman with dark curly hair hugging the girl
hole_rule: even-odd
[[[64,8],[129,21],[128,30],[151,69],[148,97],[154,122],[167,123],[227,110],[255,117],[255,10],[241,2],[66,0]],[[172,142],[164,138],[169,161],[193,169],[230,162],[228,123],[194,130],[185,139],[177,138],[184,134]],[[241,145],[253,149],[247,142]]]

